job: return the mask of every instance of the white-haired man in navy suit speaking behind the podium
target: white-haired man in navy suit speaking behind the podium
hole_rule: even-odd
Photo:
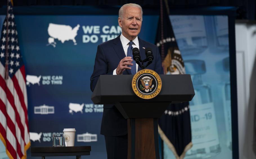
[[[147,67],[163,74],[161,56],[158,47],[138,38],[142,25],[142,8],[138,4],[125,4],[119,10],[118,24],[122,34],[115,39],[98,45],[94,70],[91,75],[93,91],[102,74],[135,74],[141,70],[133,60],[131,50],[140,50],[141,59],[145,59],[145,48],[151,48],[154,60]],[[104,105],[100,134],[105,136],[108,159],[127,158],[127,120],[114,105]]]

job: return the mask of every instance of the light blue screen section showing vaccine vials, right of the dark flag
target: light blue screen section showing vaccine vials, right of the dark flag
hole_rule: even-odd
[[[229,39],[227,16],[170,16],[191,75],[193,147],[185,158],[232,158]],[[175,158],[164,144],[164,158]]]

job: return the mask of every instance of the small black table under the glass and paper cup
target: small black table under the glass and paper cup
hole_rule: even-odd
[[[91,146],[70,146],[70,147],[31,147],[31,156],[77,156],[81,159],[83,155],[90,155]]]

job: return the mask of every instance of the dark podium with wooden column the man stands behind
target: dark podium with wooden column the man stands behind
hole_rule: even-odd
[[[127,119],[127,159],[160,159],[158,118],[170,103],[190,101],[195,95],[189,74],[160,77],[161,92],[152,99],[142,99],[133,92],[133,75],[100,75],[95,86],[94,104],[113,104]]]

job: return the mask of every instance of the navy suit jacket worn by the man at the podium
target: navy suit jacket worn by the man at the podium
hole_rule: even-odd
[[[142,60],[146,58],[145,48],[151,48],[154,55],[153,62],[146,68],[163,74],[161,64],[161,56],[158,47],[149,42],[138,38],[140,45],[140,57]],[[118,66],[120,60],[125,57],[120,36],[115,39],[106,41],[98,45],[94,70],[91,75],[91,91],[94,90],[98,78],[102,74],[113,74],[114,69]],[[145,63],[146,65],[147,63]],[[138,67],[138,71],[141,70]],[[126,69],[123,74],[131,74],[131,70]],[[104,104],[100,134],[106,136],[122,136],[127,134],[127,120],[114,105]]]

